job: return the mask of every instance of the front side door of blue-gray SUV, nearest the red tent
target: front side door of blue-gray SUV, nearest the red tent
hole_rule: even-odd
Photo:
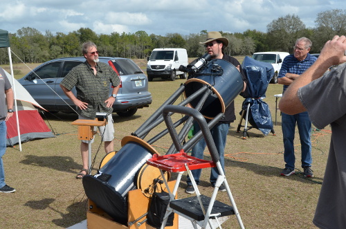
[[[48,62],[36,68],[21,84],[48,111],[55,106],[55,84],[62,62]]]

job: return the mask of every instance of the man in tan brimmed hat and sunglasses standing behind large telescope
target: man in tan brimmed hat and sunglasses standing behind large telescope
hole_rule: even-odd
[[[244,89],[246,89],[246,76],[242,70],[242,66],[239,64],[237,59],[234,57],[230,57],[229,55],[226,55],[224,53],[224,48],[228,46],[228,39],[226,37],[222,37],[221,33],[219,32],[209,32],[207,34],[206,42],[199,42],[200,44],[204,44],[206,47],[206,51],[211,55],[212,59],[224,59],[231,64],[233,64],[241,73],[243,80],[244,80]],[[197,61],[197,60],[195,60]],[[191,63],[192,65],[194,62]],[[219,152],[220,155],[220,163],[222,166],[222,169],[225,172],[224,169],[224,150],[226,146],[226,138],[228,134],[228,129],[230,128],[230,122],[234,122],[235,120],[235,104],[232,102],[225,111],[224,118],[219,120],[217,124],[210,129],[212,138],[215,142],[215,145],[217,147],[217,152]],[[194,124],[194,132],[199,131],[199,125]],[[199,142],[192,147],[192,154],[191,156],[194,156],[196,158],[203,158],[203,152],[206,148],[206,141],[202,138],[199,140]],[[201,176],[201,170],[192,170],[192,175],[194,176],[194,180],[196,181],[197,185],[199,184],[199,177]],[[219,175],[219,172],[217,171],[216,167],[212,167],[212,170],[210,172],[210,183],[212,187],[215,186],[215,183],[217,181],[217,176]],[[190,177],[187,179],[188,187],[186,187],[185,192],[188,194],[194,193],[194,187],[192,186]],[[224,185],[221,185],[219,187],[219,191],[224,192],[226,191],[226,188]]]

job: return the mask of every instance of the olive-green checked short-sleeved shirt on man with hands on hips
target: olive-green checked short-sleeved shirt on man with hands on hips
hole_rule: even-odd
[[[118,86],[120,79],[111,66],[103,62],[96,64],[96,75],[91,65],[83,62],[72,68],[61,82],[69,91],[75,86],[76,98],[88,104],[87,109],[80,110],[80,115],[88,118],[95,118],[96,112],[112,113],[113,108],[104,102],[109,98],[109,83]]]

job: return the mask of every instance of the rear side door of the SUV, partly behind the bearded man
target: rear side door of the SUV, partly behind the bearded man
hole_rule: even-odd
[[[69,73],[69,71],[71,71],[72,68],[78,66],[79,64],[82,64],[82,62],[76,60],[66,60],[62,64],[61,77],[57,78],[55,84],[55,109],[57,111],[73,111],[76,109],[75,104],[73,104],[73,102],[65,95],[64,91],[62,91],[62,88],[60,87],[60,82],[62,82],[64,77],[67,75],[67,73]],[[73,87],[71,91],[74,95],[76,95],[75,87]]]

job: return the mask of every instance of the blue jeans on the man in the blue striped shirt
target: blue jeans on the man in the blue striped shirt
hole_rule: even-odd
[[[300,145],[302,150],[302,167],[311,166],[311,120],[308,113],[302,112],[290,116],[282,113],[282,134],[284,136],[285,167],[294,170],[294,135],[295,124],[298,126]]]

